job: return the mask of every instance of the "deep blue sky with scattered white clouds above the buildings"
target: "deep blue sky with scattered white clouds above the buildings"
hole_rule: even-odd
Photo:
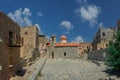
[[[91,42],[100,25],[115,27],[120,0],[3,0],[0,10],[22,27],[37,25],[40,33],[64,34],[69,42]]]

